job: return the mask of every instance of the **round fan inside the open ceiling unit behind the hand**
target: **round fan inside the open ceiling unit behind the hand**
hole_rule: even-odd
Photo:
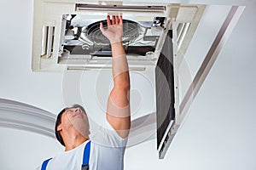
[[[107,20],[101,20],[90,24],[89,26],[84,26],[82,28],[81,34],[87,37],[94,44],[108,45],[108,38],[102,34],[100,30],[100,23],[102,22],[103,27],[106,29],[108,27]],[[140,25],[132,20],[123,20],[123,42],[131,42],[135,40],[140,35]],[[82,36],[82,35],[81,35]]]

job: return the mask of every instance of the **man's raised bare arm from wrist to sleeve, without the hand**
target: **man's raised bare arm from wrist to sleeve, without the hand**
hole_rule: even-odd
[[[108,98],[107,119],[125,138],[131,127],[129,68],[121,42],[112,44],[112,53],[114,86]]]

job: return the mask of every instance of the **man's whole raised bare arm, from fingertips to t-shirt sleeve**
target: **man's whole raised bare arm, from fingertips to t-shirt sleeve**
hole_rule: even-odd
[[[107,17],[108,29],[102,23],[100,29],[111,43],[113,89],[108,96],[107,120],[122,138],[127,137],[131,127],[130,77],[125,50],[122,44],[122,16]]]

